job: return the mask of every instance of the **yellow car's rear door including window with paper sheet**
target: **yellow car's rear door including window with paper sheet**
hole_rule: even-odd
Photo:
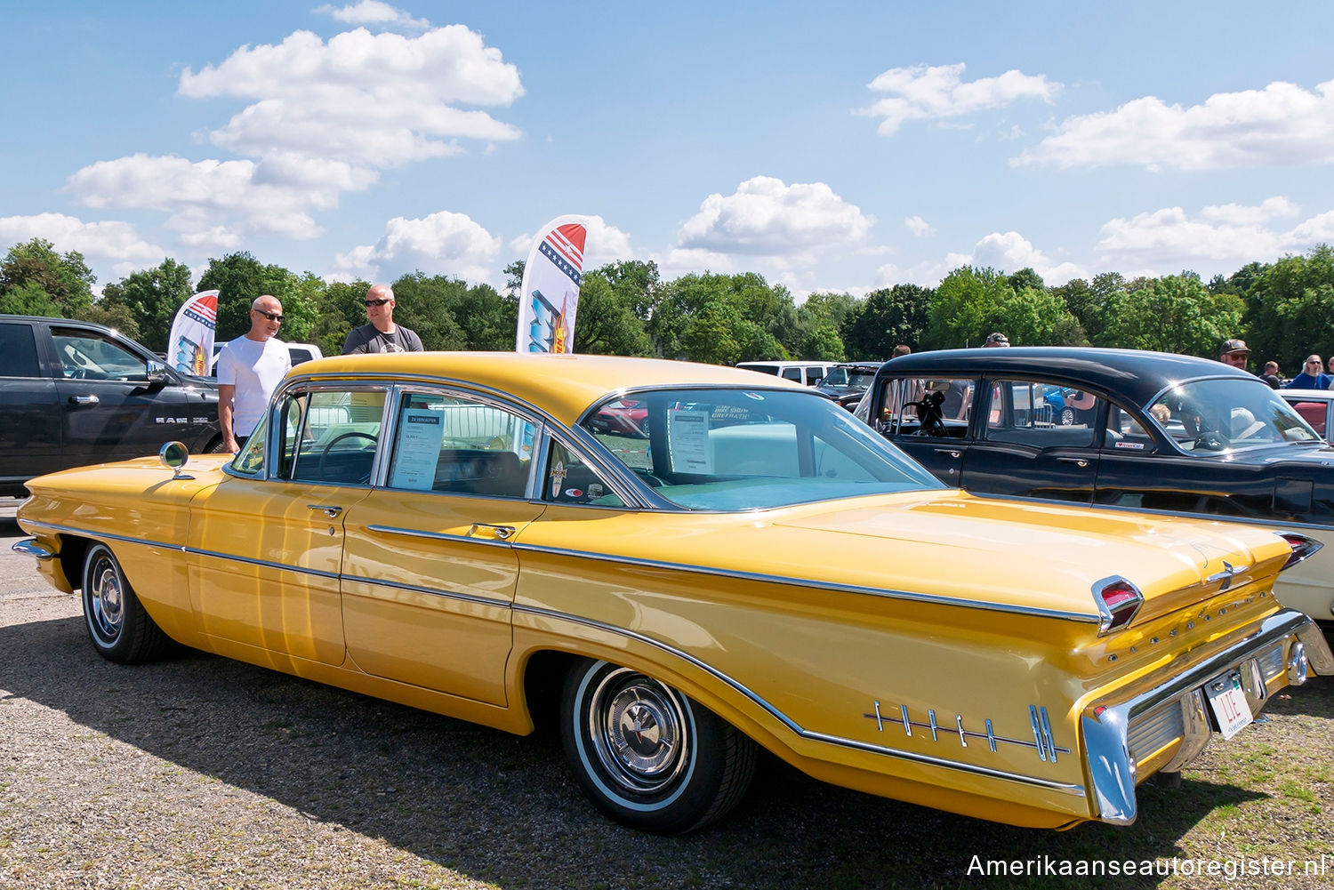
[[[392,418],[386,484],[344,522],[348,654],[375,677],[504,705],[514,539],[543,511],[539,423],[446,387],[400,388]]]

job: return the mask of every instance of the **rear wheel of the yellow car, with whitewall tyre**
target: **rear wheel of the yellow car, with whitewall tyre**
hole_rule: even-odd
[[[755,743],[651,677],[582,660],[560,706],[566,758],[594,805],[654,834],[684,834],[731,810],[755,773]]]

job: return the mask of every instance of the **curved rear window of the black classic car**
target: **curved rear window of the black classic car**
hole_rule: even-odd
[[[1182,383],[1158,396],[1147,410],[1191,454],[1321,442],[1297,411],[1261,380]]]

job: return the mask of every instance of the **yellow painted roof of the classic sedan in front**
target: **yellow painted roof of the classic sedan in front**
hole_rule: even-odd
[[[747,388],[814,390],[768,374],[718,364],[611,355],[526,352],[379,352],[336,355],[296,366],[289,376],[443,378],[488,387],[574,424],[594,403],[643,387],[723,384]]]

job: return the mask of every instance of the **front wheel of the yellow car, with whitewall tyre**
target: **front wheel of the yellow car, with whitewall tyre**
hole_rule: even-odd
[[[93,648],[109,662],[147,662],[167,647],[167,635],[144,611],[111,547],[93,544],[84,558],[84,622]]]

